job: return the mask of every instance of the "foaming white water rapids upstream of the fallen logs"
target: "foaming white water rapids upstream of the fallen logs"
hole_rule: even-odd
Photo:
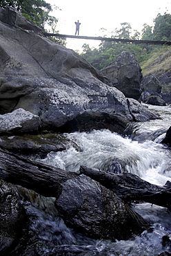
[[[143,133],[145,127],[151,132],[161,128],[168,129],[171,125],[171,107],[165,107],[161,113],[162,120],[138,124],[139,133]],[[79,172],[80,165],[109,172],[124,170],[156,185],[164,185],[166,181],[171,181],[171,176],[163,175],[170,163],[170,152],[155,140],[149,139],[139,143],[109,130],[74,132],[66,136],[81,147],[81,152],[74,147],[63,152],[51,152],[42,160],[43,163],[70,172]]]

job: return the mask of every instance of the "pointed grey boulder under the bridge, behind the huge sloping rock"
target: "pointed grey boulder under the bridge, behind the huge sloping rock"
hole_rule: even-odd
[[[123,51],[117,60],[103,68],[103,75],[108,77],[125,97],[138,100],[141,95],[141,68],[131,53]]]

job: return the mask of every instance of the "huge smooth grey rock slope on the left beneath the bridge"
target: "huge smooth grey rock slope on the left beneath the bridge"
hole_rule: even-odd
[[[27,25],[26,19],[13,9],[1,9],[0,19],[1,114],[22,108],[39,116],[42,127],[48,129],[58,129],[87,112],[114,113],[123,116],[124,123],[133,120],[123,93],[109,86],[102,73],[81,56],[39,35],[37,27],[33,28],[30,22]],[[128,81],[134,68],[141,77],[139,66],[134,63],[127,72]],[[123,63],[119,84],[124,72]],[[137,77],[133,80],[134,85],[139,84]]]

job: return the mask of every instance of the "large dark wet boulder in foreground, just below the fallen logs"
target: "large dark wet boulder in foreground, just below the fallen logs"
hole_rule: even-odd
[[[147,228],[116,194],[83,174],[63,184],[57,209],[68,226],[95,239],[128,239]]]

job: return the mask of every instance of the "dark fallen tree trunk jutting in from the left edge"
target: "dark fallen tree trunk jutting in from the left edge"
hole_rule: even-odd
[[[78,174],[74,172],[30,161],[0,149],[0,178],[43,196],[58,196],[61,184],[76,176]]]

